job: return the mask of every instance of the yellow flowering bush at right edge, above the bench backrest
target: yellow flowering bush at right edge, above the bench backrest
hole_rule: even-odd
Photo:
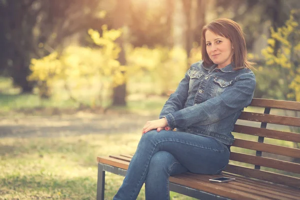
[[[278,67],[281,76],[278,81],[283,97],[295,101],[300,101],[300,26],[293,16],[298,13],[299,10],[293,10],[284,26],[276,31],[270,29],[268,46],[261,51],[266,65]],[[278,48],[275,46],[276,42]]]

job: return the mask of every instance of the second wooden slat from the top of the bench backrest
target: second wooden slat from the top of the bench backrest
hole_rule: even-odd
[[[263,114],[263,113],[242,111],[238,118],[242,120],[248,120],[248,121],[259,121],[259,122],[300,127],[300,117],[281,116],[281,115],[274,115],[274,114]]]

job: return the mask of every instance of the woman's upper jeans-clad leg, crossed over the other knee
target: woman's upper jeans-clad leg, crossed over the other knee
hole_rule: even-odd
[[[159,150],[171,153],[194,173],[217,173],[229,160],[228,148],[214,138],[179,131],[151,130],[141,136],[123,183],[113,199],[136,199],[145,181],[150,159]]]

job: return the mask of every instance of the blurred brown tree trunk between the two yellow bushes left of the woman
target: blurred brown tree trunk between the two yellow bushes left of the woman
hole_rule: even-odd
[[[113,18],[113,28],[124,27],[127,18],[129,0],[116,0]],[[123,33],[124,34],[124,33]],[[121,65],[126,64],[125,52],[123,48],[124,35],[117,38],[116,42],[121,47],[118,61]],[[112,105],[126,105],[126,82],[113,88]]]

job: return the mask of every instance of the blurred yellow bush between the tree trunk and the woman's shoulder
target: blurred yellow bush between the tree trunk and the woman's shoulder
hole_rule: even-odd
[[[127,52],[127,76],[134,76],[137,81],[150,77],[151,93],[165,94],[176,88],[187,68],[186,52],[182,48],[129,47]]]

